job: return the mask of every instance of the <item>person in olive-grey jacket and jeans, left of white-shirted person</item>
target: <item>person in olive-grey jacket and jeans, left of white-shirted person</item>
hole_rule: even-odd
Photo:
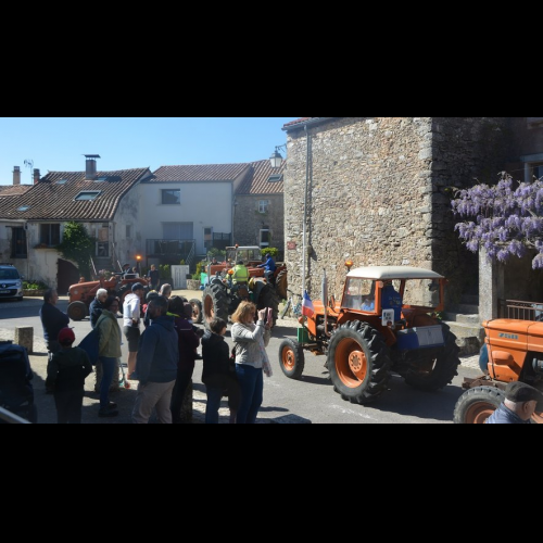
[[[110,386],[121,358],[121,327],[117,323],[118,300],[110,296],[104,302],[102,315],[97,323],[100,334],[99,355],[102,363],[102,380],[100,382],[99,417],[116,417],[117,404],[110,402]]]

